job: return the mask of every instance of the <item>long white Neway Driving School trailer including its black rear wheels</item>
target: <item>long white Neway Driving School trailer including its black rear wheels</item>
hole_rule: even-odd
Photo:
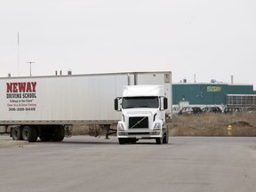
[[[10,130],[12,140],[29,142],[61,141],[65,129],[76,124],[109,129],[124,116],[114,109],[124,86],[147,84],[164,86],[171,113],[170,71],[1,77],[0,126]]]

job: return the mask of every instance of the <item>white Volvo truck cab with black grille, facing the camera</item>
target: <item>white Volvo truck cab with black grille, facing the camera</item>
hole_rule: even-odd
[[[127,85],[123,96],[115,99],[115,109],[122,112],[117,124],[119,144],[135,143],[140,139],[155,139],[168,143],[164,85]]]

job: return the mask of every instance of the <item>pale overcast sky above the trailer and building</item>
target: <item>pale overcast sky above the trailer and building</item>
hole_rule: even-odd
[[[0,0],[0,25],[0,76],[29,76],[33,61],[33,76],[171,70],[173,83],[256,85],[255,0]]]

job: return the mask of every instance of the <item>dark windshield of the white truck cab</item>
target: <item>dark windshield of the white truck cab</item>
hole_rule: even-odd
[[[157,97],[125,97],[123,98],[123,108],[158,108]]]

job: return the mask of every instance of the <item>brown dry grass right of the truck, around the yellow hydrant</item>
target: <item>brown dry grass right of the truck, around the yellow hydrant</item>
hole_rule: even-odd
[[[256,114],[203,114],[173,116],[169,124],[171,136],[228,136],[228,125],[233,136],[256,136]]]

